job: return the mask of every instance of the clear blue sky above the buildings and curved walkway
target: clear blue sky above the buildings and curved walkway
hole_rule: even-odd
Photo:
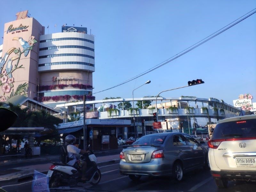
[[[93,92],[98,92],[161,63],[254,8],[255,0],[5,1],[0,7],[0,31],[3,34],[4,23],[15,20],[20,10],[49,25],[49,33],[55,33],[55,24],[61,32],[64,23],[87,27],[89,34],[91,29],[95,36]],[[131,98],[132,90],[147,80],[151,83],[134,91],[134,97],[152,96],[201,78],[205,84],[161,95],[213,97],[232,105],[239,94],[256,97],[255,21],[256,14],[163,67],[94,96],[96,100]]]

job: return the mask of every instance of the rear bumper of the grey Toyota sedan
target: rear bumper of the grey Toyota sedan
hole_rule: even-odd
[[[128,163],[121,159],[119,164],[120,174],[149,175],[149,176],[171,176],[172,165],[166,160],[159,158],[147,163]]]

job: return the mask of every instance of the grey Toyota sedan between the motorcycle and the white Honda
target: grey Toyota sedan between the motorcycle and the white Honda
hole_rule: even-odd
[[[208,148],[186,133],[163,132],[145,135],[120,153],[119,170],[131,180],[141,175],[174,176],[178,181],[185,172],[208,167]]]

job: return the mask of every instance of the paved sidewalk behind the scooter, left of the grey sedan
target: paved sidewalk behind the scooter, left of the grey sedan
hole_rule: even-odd
[[[109,153],[110,151],[121,151],[121,148],[106,150],[106,151],[95,151],[95,155],[101,153]],[[13,161],[8,160],[7,162],[0,162],[1,166],[10,163],[24,163],[24,162],[35,162],[35,161],[43,161],[43,160],[51,160],[51,159],[59,159],[59,155],[52,155],[52,156],[39,156],[39,157],[32,157],[32,159],[16,159]],[[0,159],[1,160],[1,159]],[[99,167],[109,163],[119,163],[119,154],[117,155],[109,155],[109,156],[100,156],[97,157]],[[37,164],[37,165],[28,165],[28,166],[21,166],[15,167],[12,169],[5,170],[4,172],[0,172],[0,181],[11,181],[11,180],[19,180],[26,177],[31,177],[34,175],[34,170],[38,172],[47,173],[51,163],[47,164]]]

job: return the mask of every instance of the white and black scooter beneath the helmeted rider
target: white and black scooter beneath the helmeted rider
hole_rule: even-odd
[[[82,172],[76,168],[67,164],[51,162],[52,165],[47,173],[49,177],[49,188],[77,186],[78,182],[89,182],[91,185],[97,185],[101,179],[100,169],[95,154],[90,149],[88,151],[88,153],[80,156],[87,163],[85,176],[88,178],[88,181],[81,180]]]

